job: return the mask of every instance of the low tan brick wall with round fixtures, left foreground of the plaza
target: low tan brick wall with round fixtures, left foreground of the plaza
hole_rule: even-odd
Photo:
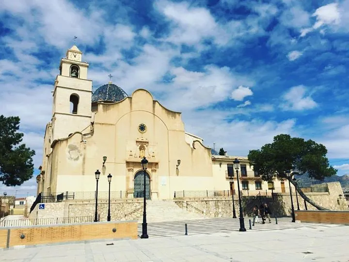
[[[137,221],[3,228],[0,229],[0,248],[98,239],[137,239],[137,230]]]

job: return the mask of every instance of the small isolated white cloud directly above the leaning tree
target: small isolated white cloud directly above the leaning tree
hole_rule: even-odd
[[[317,107],[313,98],[306,96],[306,88],[302,85],[291,87],[283,98],[285,102],[281,107],[284,110],[301,111]]]

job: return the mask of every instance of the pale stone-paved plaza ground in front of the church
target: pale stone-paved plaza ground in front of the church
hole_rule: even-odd
[[[149,239],[35,246],[0,251],[1,262],[349,262],[349,226],[291,223],[239,232],[239,220],[148,224]],[[188,236],[184,224],[188,224]],[[139,225],[139,233],[142,225]],[[113,245],[110,245],[113,244]]]

